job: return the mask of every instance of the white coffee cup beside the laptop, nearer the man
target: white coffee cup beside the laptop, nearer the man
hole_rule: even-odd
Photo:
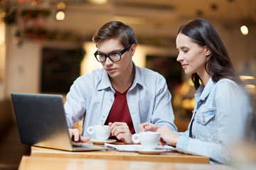
[[[89,134],[94,134],[97,140],[107,140],[110,137],[109,125],[94,125],[87,128]]]

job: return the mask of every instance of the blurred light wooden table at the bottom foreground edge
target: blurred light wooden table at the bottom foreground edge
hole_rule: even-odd
[[[18,170],[44,170],[44,169],[93,169],[93,170],[232,170],[225,165],[210,164],[186,164],[173,162],[144,162],[144,161],[128,161],[128,160],[108,160],[108,159],[82,159],[68,157],[28,157],[23,156]]]

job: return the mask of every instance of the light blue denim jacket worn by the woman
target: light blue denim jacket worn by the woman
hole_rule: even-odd
[[[234,81],[221,79],[215,83],[211,78],[206,86],[201,84],[195,98],[188,130],[176,132],[181,135],[176,149],[210,157],[210,164],[228,164],[232,146],[245,139],[247,120],[253,115],[250,98]]]

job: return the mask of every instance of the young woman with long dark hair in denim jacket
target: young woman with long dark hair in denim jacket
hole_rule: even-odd
[[[142,123],[142,131],[161,133],[161,139],[180,152],[210,157],[210,163],[228,164],[232,146],[245,139],[252,118],[250,99],[230,62],[218,31],[198,18],[178,30],[177,61],[196,88],[196,106],[186,132]]]

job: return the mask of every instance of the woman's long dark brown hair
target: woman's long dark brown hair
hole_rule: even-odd
[[[207,46],[210,49],[210,56],[206,62],[205,68],[206,72],[210,74],[214,82],[220,79],[231,79],[238,84],[242,84],[242,81],[235,74],[235,69],[230,61],[228,51],[225,44],[220,38],[218,30],[208,21],[203,18],[198,18],[196,20],[186,23],[186,25],[181,26],[178,33],[182,33],[196,44],[201,47]],[[201,85],[201,78],[197,73],[191,75],[191,80],[196,89]],[[206,85],[206,84],[205,84]]]

